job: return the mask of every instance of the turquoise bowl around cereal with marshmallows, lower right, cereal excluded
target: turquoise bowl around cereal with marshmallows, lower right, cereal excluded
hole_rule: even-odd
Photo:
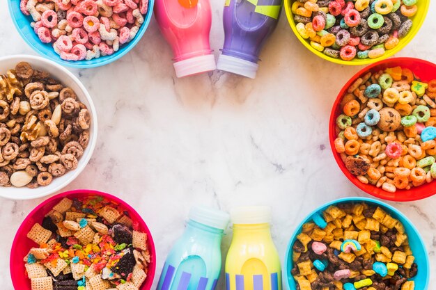
[[[312,216],[314,214],[325,211],[327,207],[333,204],[342,204],[348,202],[365,202],[366,204],[380,207],[384,209],[384,211],[389,213],[393,218],[396,218],[400,220],[401,223],[403,223],[406,234],[409,238],[410,248],[412,248],[413,255],[415,257],[415,263],[418,264],[418,275],[416,275],[416,277],[412,279],[415,282],[415,289],[427,290],[428,282],[430,280],[430,265],[428,262],[426,246],[424,245],[418,230],[412,224],[412,222],[408,218],[406,218],[404,214],[401,214],[401,212],[398,211],[398,209],[391,207],[389,204],[380,202],[378,200],[373,200],[371,198],[342,198],[340,200],[334,200],[332,202],[324,204],[322,207],[318,207],[318,209],[316,209],[315,211],[312,211],[311,214],[309,214],[309,216],[307,216],[307,218],[304,219],[302,223],[299,224],[299,226],[297,227],[297,231],[295,232],[295,234],[293,234],[292,238],[290,239],[290,243],[288,244],[288,249],[286,250],[285,268],[284,268],[285,274],[283,276],[287,278],[285,283],[288,289],[289,290],[297,289],[297,287],[295,286],[294,277],[290,273],[290,271],[293,269],[293,264],[294,264],[292,259],[292,255],[293,255],[292,248],[293,248],[293,244],[295,243],[295,240],[297,239],[297,235],[302,231],[302,227],[304,223],[308,223],[312,219]]]

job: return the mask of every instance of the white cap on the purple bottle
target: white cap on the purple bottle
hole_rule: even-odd
[[[259,65],[246,61],[242,58],[235,58],[234,56],[226,56],[221,54],[218,58],[217,69],[231,72],[233,74],[240,74],[241,76],[249,77],[250,79],[256,78],[256,72]]]

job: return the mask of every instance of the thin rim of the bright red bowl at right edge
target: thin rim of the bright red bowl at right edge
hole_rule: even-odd
[[[341,103],[341,100],[346,92],[346,90],[351,86],[351,84],[358,79],[361,75],[364,75],[366,72],[369,72],[371,70],[373,70],[374,67],[380,66],[380,65],[386,65],[389,64],[391,62],[407,62],[407,63],[420,63],[420,64],[426,64],[426,65],[430,65],[435,67],[436,70],[436,64],[435,63],[431,63],[430,61],[425,61],[423,59],[420,58],[409,58],[409,57],[399,57],[399,58],[387,58],[384,59],[382,61],[377,61],[377,63],[372,63],[371,65],[368,65],[364,68],[362,68],[361,70],[359,70],[359,72],[357,72],[355,75],[353,75],[347,83],[345,83],[345,85],[341,88],[341,90],[338,92],[338,95],[334,101],[334,104],[332,106],[332,111],[330,113],[330,118],[329,118],[329,144],[330,144],[330,150],[332,150],[332,154],[333,157],[336,161],[337,166],[341,169],[341,171],[343,172],[343,175],[345,175],[345,177],[347,177],[347,179],[354,184],[355,186],[357,186],[357,188],[359,188],[361,191],[364,191],[365,193],[368,193],[369,195],[373,195],[375,198],[380,198],[382,200],[390,200],[390,201],[394,201],[394,202],[411,202],[411,201],[415,201],[415,200],[423,200],[425,198],[430,198],[431,196],[436,194],[436,186],[434,186],[433,190],[429,190],[426,191],[423,195],[420,195],[419,197],[414,198],[414,195],[411,195],[410,197],[401,197],[398,198],[398,194],[400,192],[406,192],[406,190],[401,190],[401,191],[397,191],[394,195],[379,195],[377,193],[375,193],[374,191],[369,191],[366,189],[366,187],[370,186],[369,184],[362,184],[361,182],[359,182],[359,180],[357,178],[350,178],[351,174],[350,172],[348,172],[348,170],[345,168],[345,165],[343,165],[343,161],[341,159],[341,157],[336,153],[336,150],[334,150],[334,139],[336,139],[336,133],[335,133],[335,126],[334,124],[336,124],[336,119],[335,119],[335,115],[336,115],[336,108],[338,107],[338,105]],[[371,185],[371,188],[376,188],[375,186]],[[378,188],[377,188],[378,189]]]

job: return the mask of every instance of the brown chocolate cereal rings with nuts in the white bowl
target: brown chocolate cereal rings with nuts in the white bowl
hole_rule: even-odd
[[[88,146],[91,115],[54,77],[24,62],[0,75],[0,186],[47,186]]]

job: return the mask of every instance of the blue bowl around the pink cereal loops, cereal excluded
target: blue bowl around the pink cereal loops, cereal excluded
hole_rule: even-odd
[[[10,16],[13,19],[17,31],[20,33],[24,41],[27,42],[27,44],[36,52],[38,52],[38,54],[49,58],[60,65],[77,68],[91,68],[100,67],[101,65],[107,65],[108,63],[116,61],[118,58],[121,58],[127,54],[127,52],[129,52],[130,49],[132,49],[135,45],[137,45],[139,40],[142,38],[142,35],[146,32],[148,24],[150,24],[155,1],[149,0],[148,11],[144,16],[144,22],[139,29],[137,36],[132,41],[127,42],[124,45],[120,45],[120,49],[111,56],[100,56],[100,58],[95,58],[91,61],[64,61],[61,59],[61,57],[54,52],[52,43],[42,43],[38,38],[38,35],[33,31],[33,28],[30,26],[30,23],[33,21],[33,19],[31,16],[26,16],[21,12],[20,0],[8,0],[8,3]]]

